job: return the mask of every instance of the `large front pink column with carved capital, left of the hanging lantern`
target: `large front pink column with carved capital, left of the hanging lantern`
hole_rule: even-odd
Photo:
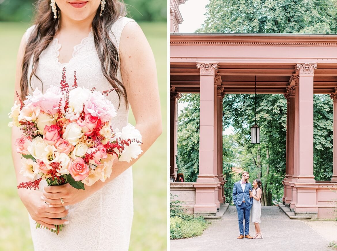
[[[197,62],[200,70],[200,147],[199,174],[196,179],[194,214],[215,215],[218,202],[218,182],[215,175],[215,87],[217,62]],[[219,202],[218,202],[219,203]]]

